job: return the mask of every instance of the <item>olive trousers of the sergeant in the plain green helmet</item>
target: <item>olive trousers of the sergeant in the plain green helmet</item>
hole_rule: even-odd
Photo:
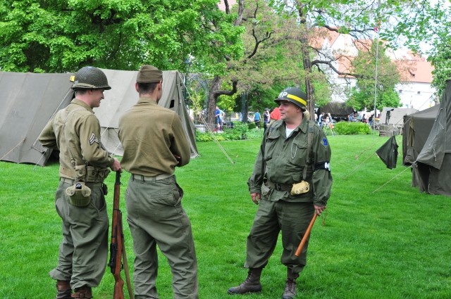
[[[101,184],[91,188],[91,202],[75,207],[69,202],[67,182],[56,189],[56,212],[63,220],[63,241],[59,247],[58,266],[52,279],[70,281],[72,288],[99,286],[108,258],[109,219]]]

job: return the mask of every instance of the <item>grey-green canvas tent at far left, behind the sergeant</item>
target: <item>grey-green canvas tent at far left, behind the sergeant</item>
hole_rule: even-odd
[[[72,75],[0,72],[0,160],[45,165],[51,150],[37,137],[70,103]]]

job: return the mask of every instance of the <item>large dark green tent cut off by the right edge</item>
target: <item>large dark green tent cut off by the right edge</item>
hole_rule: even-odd
[[[450,134],[451,80],[448,80],[440,110],[412,170],[412,184],[419,186],[419,191],[451,196]]]

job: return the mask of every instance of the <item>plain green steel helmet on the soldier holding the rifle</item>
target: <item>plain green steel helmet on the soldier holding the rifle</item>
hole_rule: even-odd
[[[85,66],[75,72],[72,89],[111,89],[111,87],[104,72],[93,66]]]

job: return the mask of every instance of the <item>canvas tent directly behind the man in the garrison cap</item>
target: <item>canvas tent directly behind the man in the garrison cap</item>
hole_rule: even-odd
[[[102,69],[103,70],[103,69]],[[110,90],[104,92],[105,98],[99,108],[94,108],[101,126],[101,141],[107,151],[114,155],[123,155],[123,148],[118,139],[119,117],[138,101],[135,90],[137,71],[103,70],[108,78]],[[163,93],[159,106],[175,111],[182,120],[183,128],[190,143],[191,156],[198,155],[194,123],[190,120],[183,100],[183,78],[175,70],[163,71]]]

